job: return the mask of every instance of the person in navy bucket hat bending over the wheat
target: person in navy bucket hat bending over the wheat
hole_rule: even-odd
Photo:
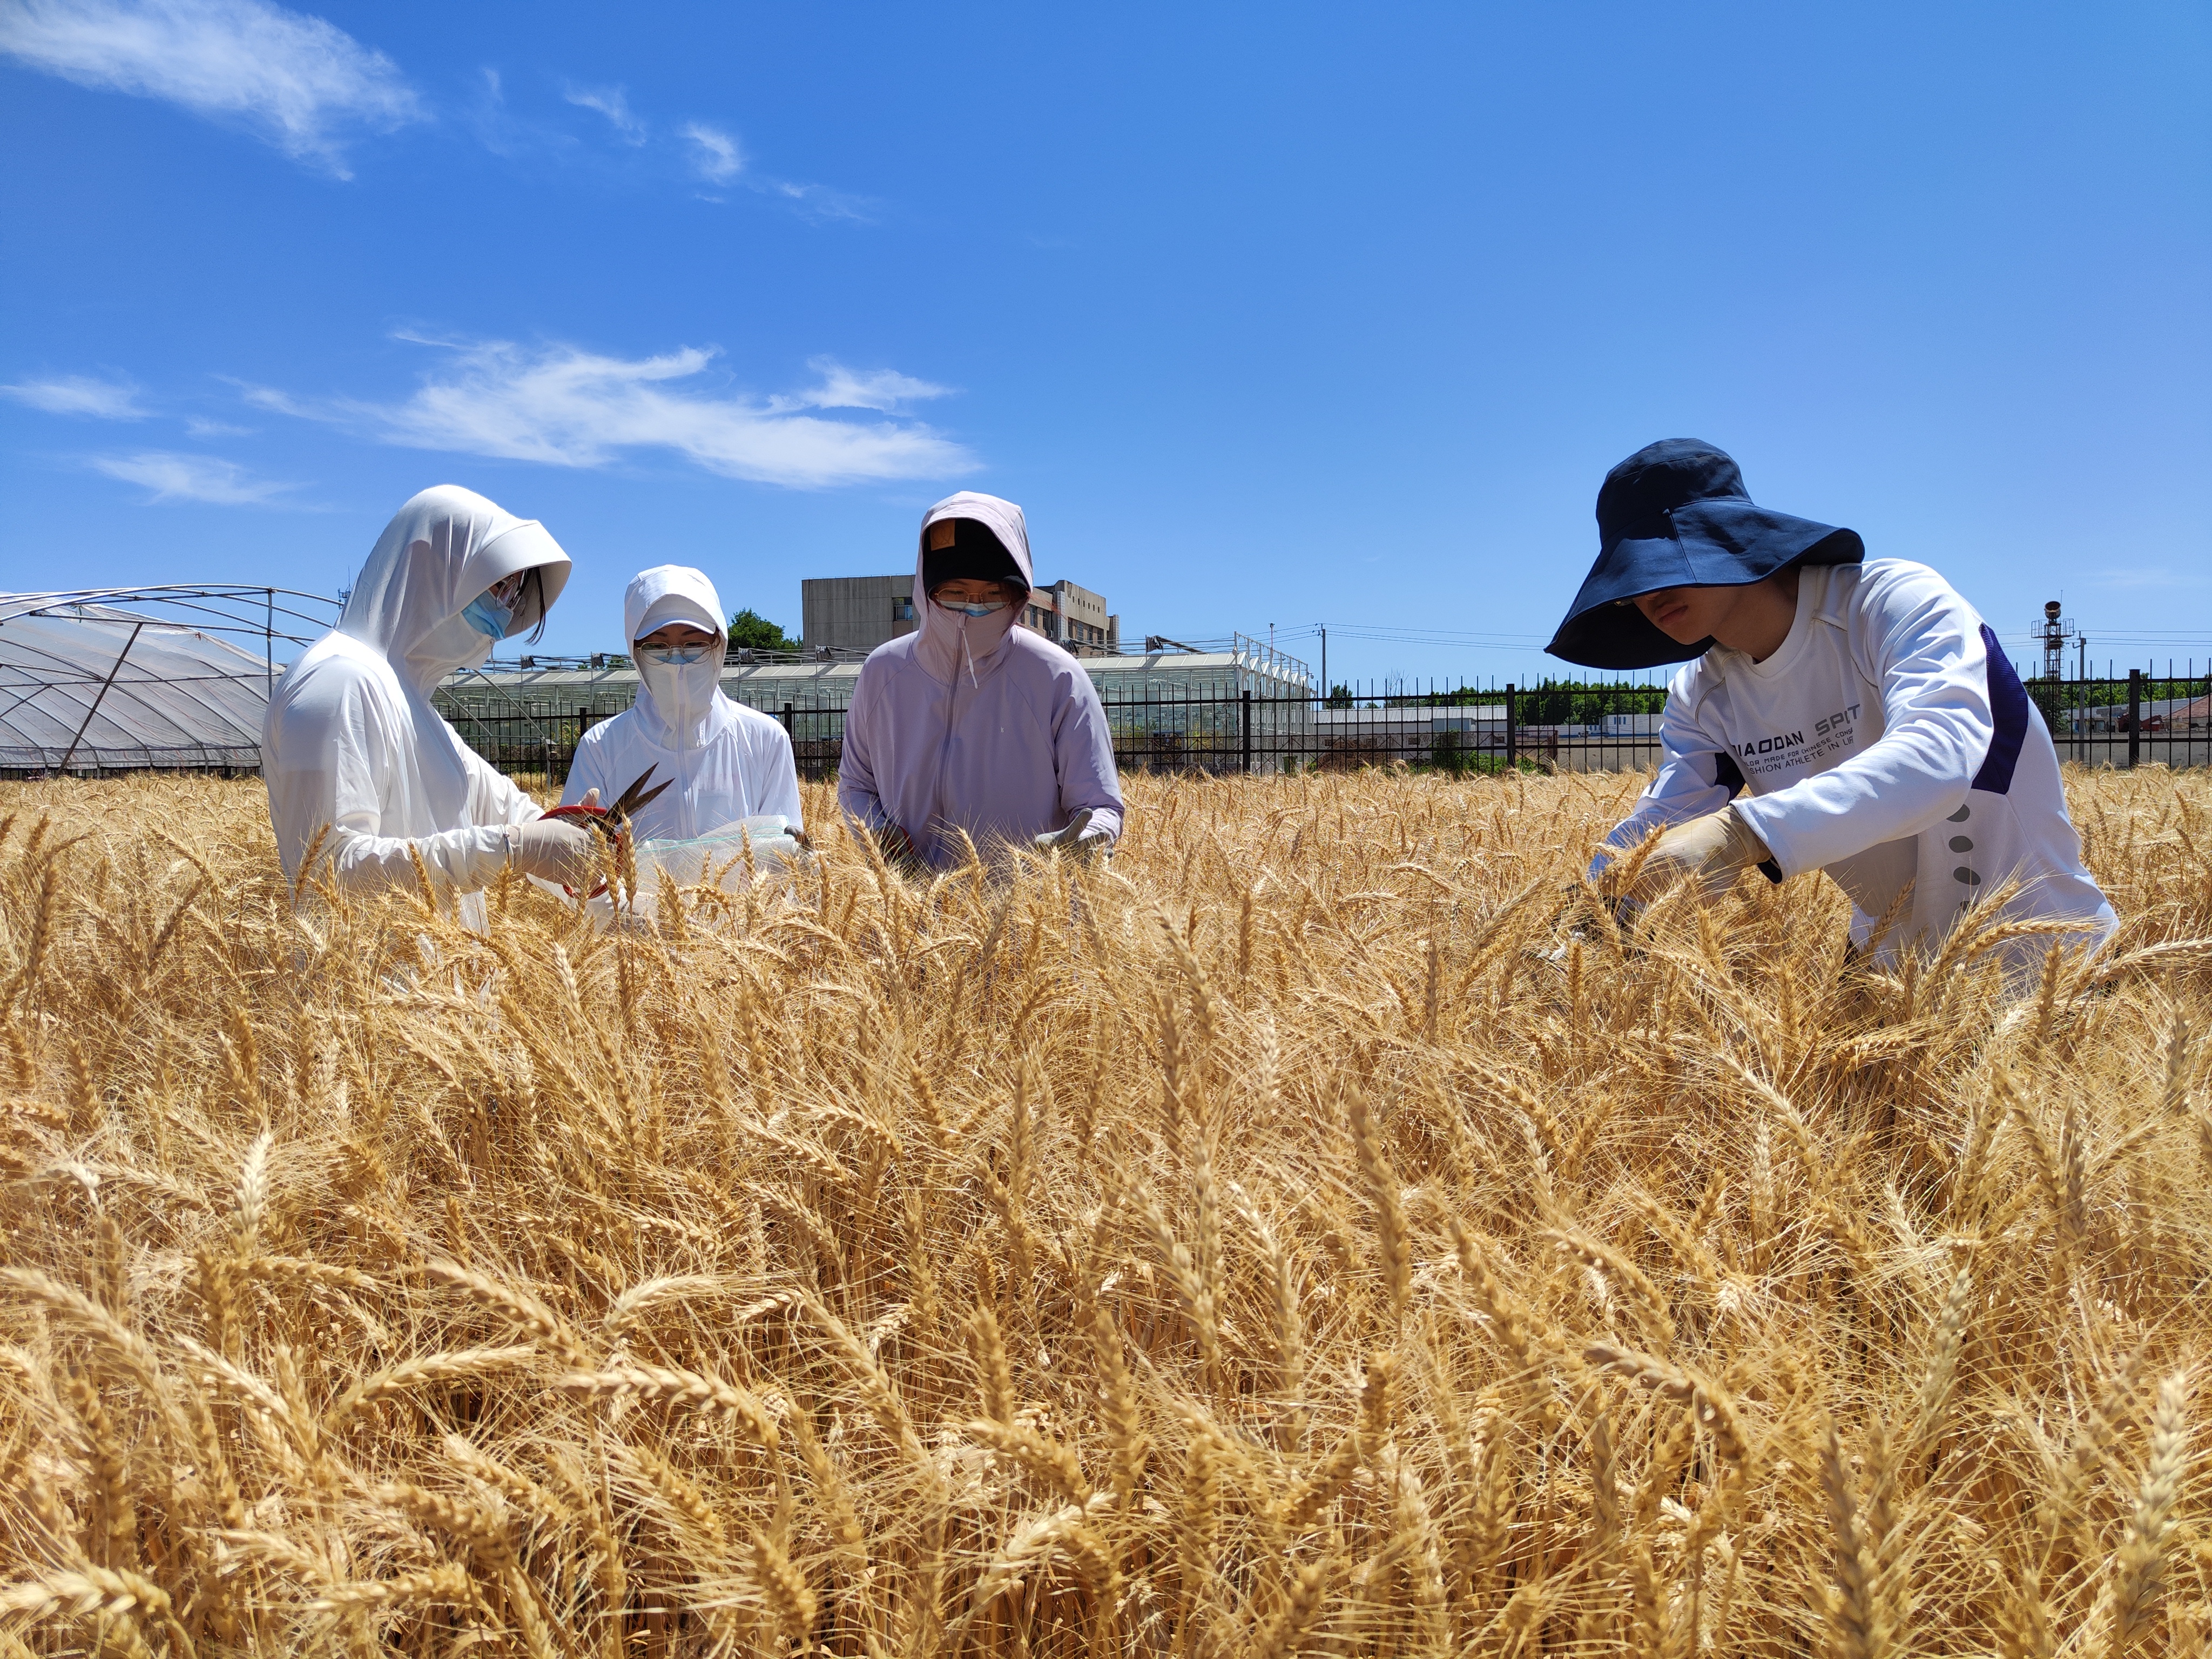
[[[1938,949],[2002,894],[1991,925],[2042,922],[1997,949],[2015,975],[2053,942],[2110,936],[2051,732],[1936,571],[1759,507],[1736,462],[1694,438],[1606,473],[1597,540],[1553,655],[1690,664],[1659,717],[1659,774],[1593,880],[1632,909],[1683,878],[1712,896],[1750,867],[1776,883],[1820,869],[1876,960]]]

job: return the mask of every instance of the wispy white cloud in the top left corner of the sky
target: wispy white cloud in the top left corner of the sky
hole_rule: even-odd
[[[80,86],[241,122],[341,179],[345,133],[422,119],[389,58],[265,0],[4,0],[0,51]]]

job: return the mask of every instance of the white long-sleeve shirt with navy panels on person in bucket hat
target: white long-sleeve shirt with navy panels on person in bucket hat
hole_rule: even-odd
[[[1882,956],[1933,949],[2013,878],[2011,918],[2073,920],[2084,938],[2115,925],[2081,867],[2051,732],[1989,624],[1924,564],[1803,568],[1781,648],[1752,661],[1714,646],[1688,664],[1659,745],[1659,776],[1597,865],[1741,792],[1783,876],[1825,869],[1845,889],[1858,945],[1911,885]]]

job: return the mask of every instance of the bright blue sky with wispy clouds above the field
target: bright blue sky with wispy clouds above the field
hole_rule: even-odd
[[[0,586],[462,482],[799,626],[962,487],[1124,633],[1559,670],[1606,467],[2212,657],[2212,11],[0,0]]]

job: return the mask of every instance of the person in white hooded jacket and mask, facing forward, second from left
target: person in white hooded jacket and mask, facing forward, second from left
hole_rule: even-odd
[[[575,805],[591,790],[613,803],[650,772],[668,787],[630,816],[639,841],[690,841],[763,814],[796,830],[792,739],[721,690],[730,633],[706,573],[684,564],[639,571],[622,597],[622,624],[637,661],[637,703],[584,732],[562,803]]]

